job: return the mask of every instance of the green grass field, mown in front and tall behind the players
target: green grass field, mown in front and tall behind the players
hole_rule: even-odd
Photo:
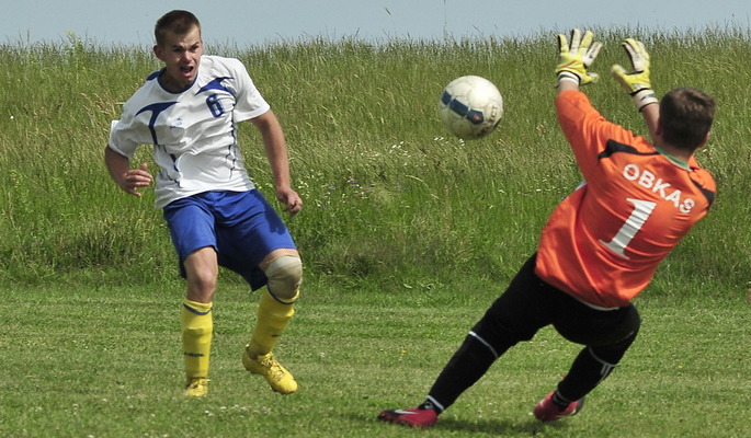
[[[596,31],[596,30],[595,30]],[[576,346],[543,331],[504,356],[424,436],[751,436],[751,36],[748,30],[608,30],[587,89],[603,115],[644,132],[606,72],[624,36],[652,56],[658,93],[692,85],[718,117],[698,161],[717,201],[637,299],[640,337],[581,416],[543,426],[532,406]],[[554,34],[524,39],[291,42],[209,47],[243,60],[287,135],[306,208],[288,222],[305,297],[278,347],[301,389],[272,393],[241,367],[255,296],[224,273],[210,394],[185,400],[183,284],[153,194],[126,196],[102,162],[110,120],[159,65],[146,48],[0,44],[0,436],[366,437],[421,401],[467,330],[535,249],[580,182],[553,110]],[[464,143],[436,117],[441,89],[491,79],[497,132]],[[246,161],[270,195],[257,134]],[[137,161],[151,163],[149,149]],[[272,197],[272,196],[270,196]],[[422,436],[422,435],[421,435]]]

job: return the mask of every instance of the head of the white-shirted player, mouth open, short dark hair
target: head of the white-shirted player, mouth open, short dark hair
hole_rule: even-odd
[[[198,74],[203,55],[198,19],[187,11],[168,12],[157,21],[153,35],[153,54],[164,62],[160,83],[170,91],[186,89]]]

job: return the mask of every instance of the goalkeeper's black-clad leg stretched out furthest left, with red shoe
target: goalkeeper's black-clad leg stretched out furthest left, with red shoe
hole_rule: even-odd
[[[545,298],[547,286],[534,274],[535,260],[533,256],[524,264],[505,292],[473,327],[436,378],[425,401],[410,410],[384,411],[379,419],[414,427],[432,426],[496,359],[550,323]]]

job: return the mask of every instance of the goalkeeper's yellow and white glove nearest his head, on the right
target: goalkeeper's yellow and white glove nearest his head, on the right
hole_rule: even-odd
[[[616,64],[611,68],[611,72],[631,96],[636,108],[641,111],[650,103],[658,102],[649,81],[649,54],[644,44],[634,38],[626,38],[621,45],[631,61],[631,71],[626,71],[623,66]]]

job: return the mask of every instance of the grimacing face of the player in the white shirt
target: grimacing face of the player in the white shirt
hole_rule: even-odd
[[[201,28],[193,28],[184,35],[168,32],[164,44],[153,46],[153,53],[164,62],[161,83],[171,91],[190,87],[198,74],[201,55],[204,45],[201,41]]]

